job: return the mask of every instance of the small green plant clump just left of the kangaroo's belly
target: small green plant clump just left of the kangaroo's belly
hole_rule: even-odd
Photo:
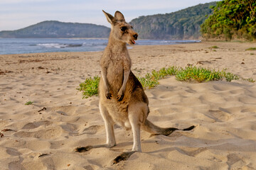
[[[78,88],[79,91],[82,91],[82,98],[88,98],[93,95],[97,95],[98,93],[98,86],[100,82],[100,77],[94,77],[93,79],[87,78],[85,79],[85,82],[82,82]]]

